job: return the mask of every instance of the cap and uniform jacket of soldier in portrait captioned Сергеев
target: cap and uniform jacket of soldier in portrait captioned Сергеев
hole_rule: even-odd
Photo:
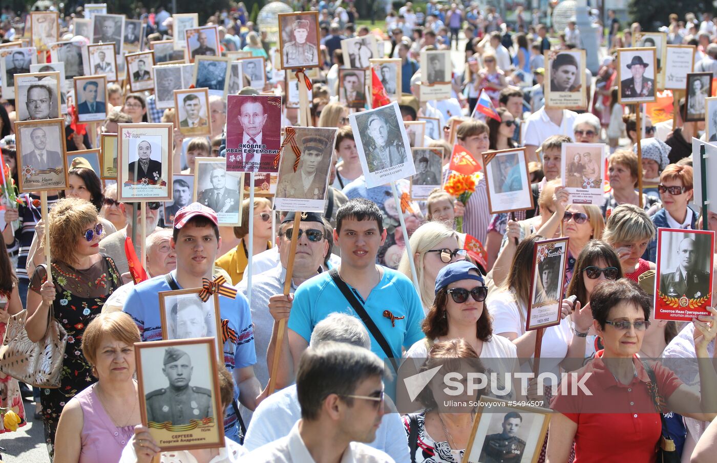
[[[167,348],[164,352],[164,365],[174,363],[186,353],[177,348]],[[176,389],[172,386],[147,393],[147,421],[166,423],[174,426],[189,424],[189,420],[201,420],[212,417],[212,391],[199,386],[184,386]]]

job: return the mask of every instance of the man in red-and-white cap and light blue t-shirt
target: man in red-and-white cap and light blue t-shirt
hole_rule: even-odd
[[[212,209],[199,203],[179,209],[174,216],[171,240],[171,247],[176,252],[177,269],[133,287],[123,307],[137,324],[143,341],[162,339],[158,292],[200,288],[202,278],[211,280],[214,258],[221,245],[217,214]],[[222,318],[224,364],[232,371],[237,383],[239,401],[253,411],[258,404],[260,384],[252,368],[257,363],[257,356],[252,315],[246,297],[241,293],[234,299],[219,295],[219,316]],[[227,407],[224,434],[238,441],[238,431],[236,410],[233,406]]]

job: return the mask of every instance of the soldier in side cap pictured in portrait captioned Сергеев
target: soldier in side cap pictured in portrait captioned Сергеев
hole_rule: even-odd
[[[212,417],[212,391],[189,386],[192,371],[191,358],[184,350],[167,348],[164,351],[162,373],[167,377],[169,386],[145,395],[147,421],[169,421],[173,426],[179,426],[189,424],[190,419]]]

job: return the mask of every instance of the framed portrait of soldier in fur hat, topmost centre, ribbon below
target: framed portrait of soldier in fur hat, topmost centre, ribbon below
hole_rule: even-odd
[[[279,14],[281,69],[318,67],[318,11]]]

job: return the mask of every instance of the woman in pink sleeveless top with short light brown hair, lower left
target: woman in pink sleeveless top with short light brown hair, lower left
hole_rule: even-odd
[[[137,325],[124,312],[98,315],[82,337],[82,355],[98,382],[78,393],[60,415],[55,463],[118,462],[140,424],[134,343]]]

